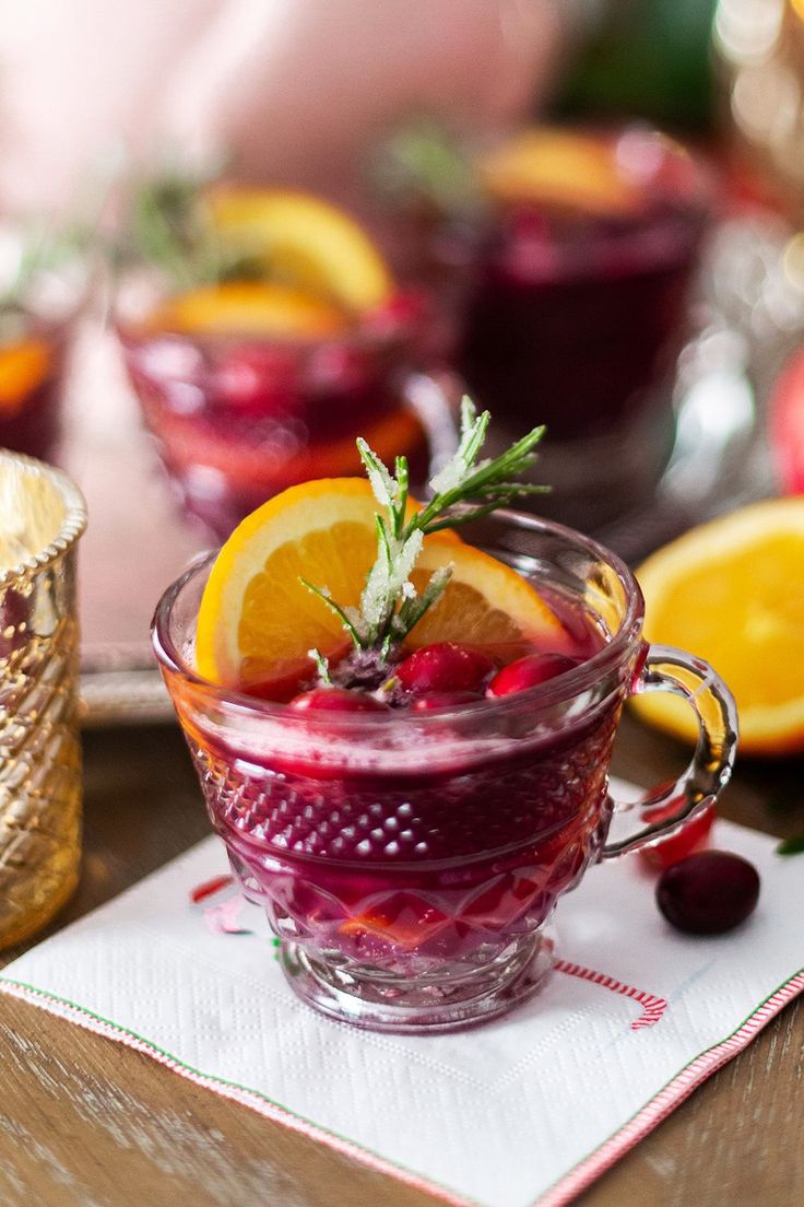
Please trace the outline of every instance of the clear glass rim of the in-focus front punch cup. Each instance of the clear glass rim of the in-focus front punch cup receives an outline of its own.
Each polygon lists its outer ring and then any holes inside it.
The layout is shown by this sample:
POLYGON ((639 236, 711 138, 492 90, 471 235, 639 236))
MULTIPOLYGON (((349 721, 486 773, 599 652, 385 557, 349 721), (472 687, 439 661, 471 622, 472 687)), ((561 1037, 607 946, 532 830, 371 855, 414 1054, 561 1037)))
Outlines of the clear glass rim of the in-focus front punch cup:
MULTIPOLYGON (((599 682, 610 667, 626 660, 634 641, 640 639, 645 604, 639 583, 624 561, 622 561, 617 554, 606 549, 605 546, 598 544, 597 541, 593 541, 591 537, 585 536, 575 529, 567 527, 564 524, 556 524, 552 520, 545 520, 536 515, 529 515, 524 512, 509 509, 500 509, 495 512, 492 519, 494 521, 504 521, 520 530, 524 529, 532 532, 541 532, 546 536, 561 537, 568 543, 571 543, 576 549, 581 549, 597 561, 603 561, 610 566, 611 570, 614 570, 626 593, 627 607, 620 628, 611 641, 608 641, 597 654, 593 654, 592 658, 586 659, 586 661, 581 663, 580 666, 576 666, 570 671, 565 671, 563 675, 558 676, 558 678, 548 680, 546 683, 540 683, 524 692, 516 692, 510 696, 503 696, 493 700, 479 700, 475 704, 462 705, 459 710, 439 709, 426 713, 406 710, 392 710, 388 713, 380 715, 339 713, 339 731, 342 731, 344 734, 347 731, 377 733, 389 724, 413 725, 421 729, 423 724, 442 724, 451 717, 465 719, 471 716, 480 722, 486 717, 500 716, 503 712, 517 711, 522 707, 544 707, 557 704, 562 700, 573 699, 573 696, 579 695, 592 684, 599 682)), ((491 549, 493 549, 493 544, 489 544, 489 550, 491 549)), ((210 565, 210 562, 217 556, 217 553, 218 550, 215 549, 211 553, 201 554, 195 558, 184 573, 171 583, 170 587, 168 587, 157 604, 151 631, 153 648, 158 661, 165 670, 181 676, 182 680, 192 683, 206 695, 216 699, 219 704, 236 710, 243 716, 270 718, 272 721, 282 721, 286 724, 298 721, 299 724, 305 724, 307 727, 310 725, 311 718, 317 716, 322 719, 327 719, 327 723, 331 727, 331 712, 313 713, 312 711, 309 711, 298 713, 294 717, 293 711, 288 709, 287 704, 276 704, 270 700, 258 700, 253 695, 246 695, 243 692, 237 692, 234 688, 221 687, 217 683, 211 683, 209 680, 203 678, 203 676, 200 676, 198 671, 184 660, 181 651, 176 648, 176 645, 168 631, 176 600, 189 581, 210 565)))

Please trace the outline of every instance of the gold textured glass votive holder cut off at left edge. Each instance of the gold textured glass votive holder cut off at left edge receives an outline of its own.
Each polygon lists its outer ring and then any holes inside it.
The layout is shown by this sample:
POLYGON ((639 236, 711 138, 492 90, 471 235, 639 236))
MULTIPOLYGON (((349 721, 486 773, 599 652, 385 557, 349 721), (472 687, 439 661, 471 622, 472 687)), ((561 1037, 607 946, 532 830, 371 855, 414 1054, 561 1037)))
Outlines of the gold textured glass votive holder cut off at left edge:
POLYGON ((65 904, 81 859, 76 546, 70 479, 0 450, 0 947, 65 904))

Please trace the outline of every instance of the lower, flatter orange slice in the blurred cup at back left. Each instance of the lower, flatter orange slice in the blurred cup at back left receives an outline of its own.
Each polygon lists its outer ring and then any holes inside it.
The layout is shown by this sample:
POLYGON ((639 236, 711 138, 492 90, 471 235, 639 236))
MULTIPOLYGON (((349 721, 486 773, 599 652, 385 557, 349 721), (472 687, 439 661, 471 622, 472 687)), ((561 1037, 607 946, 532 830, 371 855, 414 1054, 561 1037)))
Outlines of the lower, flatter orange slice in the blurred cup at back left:
POLYGON ((190 334, 322 339, 344 331, 342 310, 271 281, 224 281, 178 293, 148 325, 190 334))

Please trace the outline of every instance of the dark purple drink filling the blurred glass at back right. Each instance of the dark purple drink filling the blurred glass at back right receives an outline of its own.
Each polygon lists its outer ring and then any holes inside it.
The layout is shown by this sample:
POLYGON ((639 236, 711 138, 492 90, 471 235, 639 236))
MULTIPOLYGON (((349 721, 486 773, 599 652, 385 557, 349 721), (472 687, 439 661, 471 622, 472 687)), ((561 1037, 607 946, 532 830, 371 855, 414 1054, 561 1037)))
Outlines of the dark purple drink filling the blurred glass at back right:
POLYGON ((457 363, 495 420, 551 441, 610 433, 656 403, 671 371, 700 220, 503 215, 481 246, 457 363))

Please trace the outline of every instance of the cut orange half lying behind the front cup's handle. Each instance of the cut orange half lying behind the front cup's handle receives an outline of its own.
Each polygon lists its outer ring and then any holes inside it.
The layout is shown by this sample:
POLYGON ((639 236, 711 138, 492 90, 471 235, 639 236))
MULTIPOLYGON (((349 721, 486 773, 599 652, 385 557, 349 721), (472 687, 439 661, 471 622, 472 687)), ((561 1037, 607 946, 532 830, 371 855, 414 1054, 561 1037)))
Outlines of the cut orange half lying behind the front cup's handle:
MULTIPOLYGON (((636 571, 645 635, 705 658, 730 687, 740 750, 804 750, 804 497, 773 498, 700 525, 636 571)), ((694 740, 677 698, 636 696, 640 717, 694 740)))

